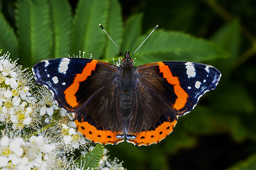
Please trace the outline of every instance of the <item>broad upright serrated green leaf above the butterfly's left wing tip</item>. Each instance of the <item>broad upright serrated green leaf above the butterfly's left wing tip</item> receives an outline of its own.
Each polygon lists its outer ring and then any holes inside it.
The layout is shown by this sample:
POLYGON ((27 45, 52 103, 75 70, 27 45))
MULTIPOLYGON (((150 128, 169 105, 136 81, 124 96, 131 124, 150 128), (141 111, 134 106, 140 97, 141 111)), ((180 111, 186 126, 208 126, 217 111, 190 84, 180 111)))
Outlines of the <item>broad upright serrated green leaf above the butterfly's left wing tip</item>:
POLYGON ((20 47, 19 62, 23 66, 29 67, 35 62, 50 58, 52 31, 46 0, 19 0, 16 26, 20 47))

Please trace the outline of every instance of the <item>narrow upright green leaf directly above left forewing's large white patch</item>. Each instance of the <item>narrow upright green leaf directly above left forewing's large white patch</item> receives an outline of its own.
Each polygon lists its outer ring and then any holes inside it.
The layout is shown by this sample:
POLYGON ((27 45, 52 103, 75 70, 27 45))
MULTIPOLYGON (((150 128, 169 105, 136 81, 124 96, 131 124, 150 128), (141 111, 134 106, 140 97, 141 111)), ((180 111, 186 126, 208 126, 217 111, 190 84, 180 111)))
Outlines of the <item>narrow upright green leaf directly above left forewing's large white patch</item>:
POLYGON ((67 0, 50 0, 52 18, 52 57, 67 57, 71 50, 72 12, 67 0))

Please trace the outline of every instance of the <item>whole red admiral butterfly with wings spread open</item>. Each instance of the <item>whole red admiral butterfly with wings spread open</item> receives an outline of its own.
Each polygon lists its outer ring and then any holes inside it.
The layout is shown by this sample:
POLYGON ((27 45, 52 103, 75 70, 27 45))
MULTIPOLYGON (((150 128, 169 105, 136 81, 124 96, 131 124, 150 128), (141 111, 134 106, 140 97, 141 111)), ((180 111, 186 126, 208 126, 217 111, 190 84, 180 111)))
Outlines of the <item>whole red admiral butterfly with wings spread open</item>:
POLYGON ((74 112, 77 130, 92 142, 136 146, 163 140, 180 115, 216 88, 221 72, 194 62, 133 66, 126 52, 121 66, 85 58, 43 60, 33 67, 60 108, 74 112))

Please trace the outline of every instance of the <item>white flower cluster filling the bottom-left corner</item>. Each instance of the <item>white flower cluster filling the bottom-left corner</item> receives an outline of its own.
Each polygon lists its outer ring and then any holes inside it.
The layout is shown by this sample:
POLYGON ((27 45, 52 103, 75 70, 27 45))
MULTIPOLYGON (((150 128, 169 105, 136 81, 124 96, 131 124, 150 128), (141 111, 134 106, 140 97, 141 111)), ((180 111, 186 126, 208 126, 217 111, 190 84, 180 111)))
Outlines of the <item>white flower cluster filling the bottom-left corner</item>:
POLYGON ((43 136, 32 136, 29 140, 22 137, 0 139, 0 169, 51 169, 55 166, 56 144, 45 142, 43 136))

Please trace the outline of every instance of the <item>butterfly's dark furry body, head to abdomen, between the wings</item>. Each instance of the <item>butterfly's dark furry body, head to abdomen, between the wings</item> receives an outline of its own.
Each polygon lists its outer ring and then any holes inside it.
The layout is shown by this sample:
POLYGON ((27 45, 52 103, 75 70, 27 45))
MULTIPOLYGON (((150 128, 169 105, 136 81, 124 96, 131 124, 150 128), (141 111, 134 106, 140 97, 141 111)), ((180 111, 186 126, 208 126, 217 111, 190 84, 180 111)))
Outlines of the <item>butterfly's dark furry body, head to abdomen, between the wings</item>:
POLYGON ((130 59, 129 52, 126 52, 124 59, 122 60, 121 66, 119 67, 119 98, 121 113, 126 117, 130 115, 131 109, 133 108, 133 101, 135 92, 135 67, 133 67, 133 60, 130 59))

